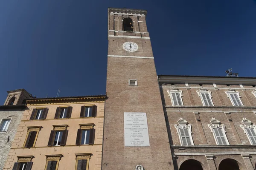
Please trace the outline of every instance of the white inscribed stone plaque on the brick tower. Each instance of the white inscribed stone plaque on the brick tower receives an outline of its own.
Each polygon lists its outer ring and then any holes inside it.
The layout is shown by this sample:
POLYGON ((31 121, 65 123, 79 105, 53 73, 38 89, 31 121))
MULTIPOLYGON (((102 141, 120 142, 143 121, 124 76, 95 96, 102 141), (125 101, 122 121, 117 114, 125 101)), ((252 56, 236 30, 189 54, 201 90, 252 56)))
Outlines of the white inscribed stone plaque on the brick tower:
POLYGON ((149 146, 146 113, 124 112, 125 146, 149 146))

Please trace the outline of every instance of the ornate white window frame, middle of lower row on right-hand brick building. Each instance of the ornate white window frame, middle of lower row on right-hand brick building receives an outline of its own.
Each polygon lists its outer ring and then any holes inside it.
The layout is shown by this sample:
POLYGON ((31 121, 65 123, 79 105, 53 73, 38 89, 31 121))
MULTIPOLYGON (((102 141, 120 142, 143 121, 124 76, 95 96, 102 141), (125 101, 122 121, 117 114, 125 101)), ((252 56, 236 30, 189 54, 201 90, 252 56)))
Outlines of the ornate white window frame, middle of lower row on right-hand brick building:
MULTIPOLYGON (((210 124, 208 124, 208 127, 210 128, 210 130, 211 130, 211 132, 212 132, 212 135, 213 135, 213 137, 214 137, 214 140, 215 140, 215 142, 216 142, 217 145, 223 145, 223 144, 219 144, 219 143, 218 143, 218 139, 217 139, 217 137, 216 137, 216 135, 215 135, 215 132, 214 132, 214 130, 213 130, 214 128, 221 128, 221 129, 222 129, 222 133, 223 133, 225 142, 227 143, 227 144, 225 144, 225 145, 230 145, 230 143, 228 142, 228 139, 227 139, 227 135, 226 135, 227 132, 226 132, 226 130, 225 130, 225 125, 221 124, 220 121, 218 121, 217 119, 215 119, 215 118, 213 117, 212 120, 211 120, 211 122, 210 122, 210 124)), ((225 145, 223 145, 223 146, 225 146, 225 145)))

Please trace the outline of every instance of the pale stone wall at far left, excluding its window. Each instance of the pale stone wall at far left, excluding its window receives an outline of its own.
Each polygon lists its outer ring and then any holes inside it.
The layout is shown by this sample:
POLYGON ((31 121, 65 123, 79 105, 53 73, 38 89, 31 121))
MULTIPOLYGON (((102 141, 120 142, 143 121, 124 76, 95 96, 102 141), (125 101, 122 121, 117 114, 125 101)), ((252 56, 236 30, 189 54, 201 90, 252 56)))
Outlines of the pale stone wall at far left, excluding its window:
POLYGON ((15 133, 17 131, 18 125, 20 124, 22 112, 23 111, 0 110, 0 121, 2 121, 2 119, 4 118, 12 118, 7 132, 0 132, 0 170, 2 170, 3 168, 9 150, 11 148, 12 142, 15 139, 15 133))

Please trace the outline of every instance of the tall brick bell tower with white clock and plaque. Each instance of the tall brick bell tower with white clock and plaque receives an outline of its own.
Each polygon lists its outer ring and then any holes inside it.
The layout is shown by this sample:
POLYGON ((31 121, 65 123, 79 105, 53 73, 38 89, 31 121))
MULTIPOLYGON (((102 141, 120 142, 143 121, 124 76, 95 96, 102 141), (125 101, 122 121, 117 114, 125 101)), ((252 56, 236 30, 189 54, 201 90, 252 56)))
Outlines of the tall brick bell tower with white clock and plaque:
POLYGON ((174 169, 146 14, 108 8, 102 170, 174 169))

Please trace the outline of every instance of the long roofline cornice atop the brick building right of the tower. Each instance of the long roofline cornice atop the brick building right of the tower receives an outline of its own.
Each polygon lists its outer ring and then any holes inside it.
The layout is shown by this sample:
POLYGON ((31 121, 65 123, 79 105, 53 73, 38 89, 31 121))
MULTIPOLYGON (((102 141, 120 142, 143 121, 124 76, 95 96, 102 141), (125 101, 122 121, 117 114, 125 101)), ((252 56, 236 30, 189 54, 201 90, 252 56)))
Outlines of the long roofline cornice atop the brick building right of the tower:
POLYGON ((159 82, 182 83, 218 83, 218 84, 249 84, 255 85, 255 77, 207 77, 207 76, 158 76, 159 82))

